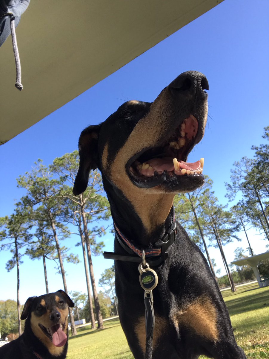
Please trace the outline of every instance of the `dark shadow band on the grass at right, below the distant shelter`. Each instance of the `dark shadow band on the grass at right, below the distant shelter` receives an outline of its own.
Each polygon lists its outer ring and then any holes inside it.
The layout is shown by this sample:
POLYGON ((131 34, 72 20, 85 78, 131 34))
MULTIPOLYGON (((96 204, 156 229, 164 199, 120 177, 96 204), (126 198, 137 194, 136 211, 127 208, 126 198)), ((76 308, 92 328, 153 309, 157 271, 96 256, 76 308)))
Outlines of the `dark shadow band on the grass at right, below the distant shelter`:
POLYGON ((266 308, 269 306, 269 292, 258 292, 247 297, 231 299, 226 302, 226 306, 230 315, 266 308))

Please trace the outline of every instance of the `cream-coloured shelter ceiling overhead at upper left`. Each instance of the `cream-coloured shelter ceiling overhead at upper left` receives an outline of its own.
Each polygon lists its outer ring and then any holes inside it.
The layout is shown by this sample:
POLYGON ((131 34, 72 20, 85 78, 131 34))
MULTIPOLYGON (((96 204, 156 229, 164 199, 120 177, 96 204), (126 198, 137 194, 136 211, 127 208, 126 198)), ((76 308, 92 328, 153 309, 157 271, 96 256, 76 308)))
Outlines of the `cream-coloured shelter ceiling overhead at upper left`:
POLYGON ((0 144, 40 121, 222 0, 32 0, 0 48, 0 144))

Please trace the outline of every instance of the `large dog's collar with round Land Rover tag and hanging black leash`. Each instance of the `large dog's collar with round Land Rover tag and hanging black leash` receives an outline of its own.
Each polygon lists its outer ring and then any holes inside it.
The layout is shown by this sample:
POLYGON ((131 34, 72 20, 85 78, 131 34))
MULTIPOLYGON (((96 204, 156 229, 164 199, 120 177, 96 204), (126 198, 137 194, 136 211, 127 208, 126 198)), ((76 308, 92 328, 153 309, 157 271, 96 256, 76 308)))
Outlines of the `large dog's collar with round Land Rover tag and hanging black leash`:
POLYGON ((145 326, 146 326, 146 348, 145 359, 152 359, 153 355, 153 331, 155 325, 155 315, 153 309, 152 291, 158 284, 157 273, 150 266, 158 266, 168 258, 166 252, 168 247, 174 243, 177 235, 177 225, 174 222, 174 208, 172 207, 172 220, 169 228, 165 231, 162 239, 154 243, 152 248, 138 248, 131 243, 128 238, 120 232, 114 223, 115 236, 121 247, 129 253, 129 256, 114 252, 104 252, 105 259, 114 259, 117 261, 128 261, 139 263, 139 282, 145 291, 145 326), (136 255, 133 255, 135 253, 136 255))

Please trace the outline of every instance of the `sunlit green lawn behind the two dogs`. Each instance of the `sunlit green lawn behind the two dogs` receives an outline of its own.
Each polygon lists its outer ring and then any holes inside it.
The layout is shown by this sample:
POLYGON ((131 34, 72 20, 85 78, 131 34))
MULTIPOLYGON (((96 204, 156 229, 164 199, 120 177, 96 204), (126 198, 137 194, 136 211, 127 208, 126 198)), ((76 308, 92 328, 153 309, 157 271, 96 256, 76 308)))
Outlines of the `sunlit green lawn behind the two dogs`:
MULTIPOLYGON (((248 359, 269 358, 269 287, 250 284, 222 291, 231 316, 235 339, 248 359)), ((70 337, 67 359, 132 359, 120 322, 104 322, 104 330, 78 328, 70 337)), ((200 359, 207 357, 200 356, 200 359)))

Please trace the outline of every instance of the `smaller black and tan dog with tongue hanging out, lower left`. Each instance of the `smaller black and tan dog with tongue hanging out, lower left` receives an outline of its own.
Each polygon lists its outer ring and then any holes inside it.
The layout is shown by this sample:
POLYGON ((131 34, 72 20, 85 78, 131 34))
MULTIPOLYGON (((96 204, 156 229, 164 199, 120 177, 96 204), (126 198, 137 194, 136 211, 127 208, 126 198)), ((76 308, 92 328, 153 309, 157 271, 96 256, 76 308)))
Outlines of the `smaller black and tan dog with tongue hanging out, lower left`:
POLYGON ((1 359, 65 359, 68 344, 68 306, 63 290, 28 298, 21 319, 23 334, 0 348, 1 359))

